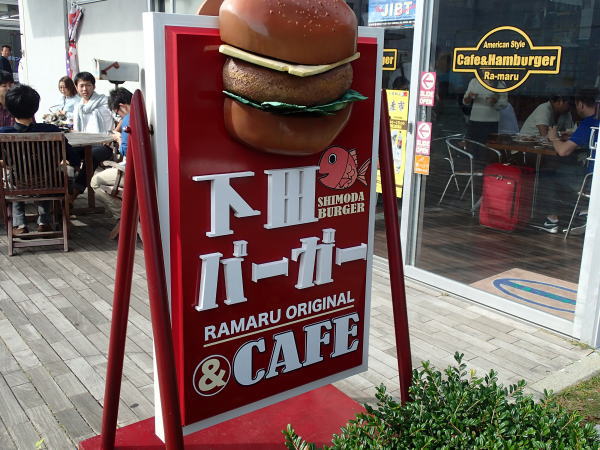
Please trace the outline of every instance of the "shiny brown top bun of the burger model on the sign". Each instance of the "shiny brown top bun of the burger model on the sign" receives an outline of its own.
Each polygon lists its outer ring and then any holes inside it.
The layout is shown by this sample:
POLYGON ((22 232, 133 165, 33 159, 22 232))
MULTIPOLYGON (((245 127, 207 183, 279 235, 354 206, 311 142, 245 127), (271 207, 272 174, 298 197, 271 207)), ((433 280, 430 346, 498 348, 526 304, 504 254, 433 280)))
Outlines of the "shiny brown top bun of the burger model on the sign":
POLYGON ((344 0, 224 0, 219 28, 227 44, 295 64, 356 53, 356 16, 344 0))

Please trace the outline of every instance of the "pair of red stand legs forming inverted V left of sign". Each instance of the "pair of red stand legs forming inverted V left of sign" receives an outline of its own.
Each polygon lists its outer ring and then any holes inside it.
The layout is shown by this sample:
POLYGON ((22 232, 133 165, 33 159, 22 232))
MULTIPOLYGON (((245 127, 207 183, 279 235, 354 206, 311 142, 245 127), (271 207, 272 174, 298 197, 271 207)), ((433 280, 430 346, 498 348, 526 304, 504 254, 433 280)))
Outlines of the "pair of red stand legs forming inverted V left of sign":
POLYGON ((158 207, 150 132, 140 90, 135 91, 133 95, 130 115, 130 155, 125 172, 123 215, 120 225, 113 321, 102 416, 102 448, 113 449, 115 446, 139 203, 160 400, 163 405, 165 444, 168 449, 183 449, 167 282, 160 230, 158 229, 158 207))

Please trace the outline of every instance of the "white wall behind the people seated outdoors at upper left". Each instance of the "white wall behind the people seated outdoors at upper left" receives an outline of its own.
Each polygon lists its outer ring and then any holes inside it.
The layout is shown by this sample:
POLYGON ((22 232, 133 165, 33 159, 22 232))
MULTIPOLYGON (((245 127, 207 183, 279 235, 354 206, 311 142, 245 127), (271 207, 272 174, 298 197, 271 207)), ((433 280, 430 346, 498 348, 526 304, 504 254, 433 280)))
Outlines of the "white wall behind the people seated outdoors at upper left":
MULTIPOLYGON (((19 0, 22 46, 26 55, 24 83, 42 97, 38 121, 59 98, 58 80, 66 75, 67 0, 19 0)), ((104 0, 82 5, 79 27, 79 70, 96 75, 94 58, 143 64, 142 13, 147 0, 104 0)), ((125 83, 130 91, 140 83, 125 83)), ((108 94, 108 81, 98 80, 96 90, 108 94)))

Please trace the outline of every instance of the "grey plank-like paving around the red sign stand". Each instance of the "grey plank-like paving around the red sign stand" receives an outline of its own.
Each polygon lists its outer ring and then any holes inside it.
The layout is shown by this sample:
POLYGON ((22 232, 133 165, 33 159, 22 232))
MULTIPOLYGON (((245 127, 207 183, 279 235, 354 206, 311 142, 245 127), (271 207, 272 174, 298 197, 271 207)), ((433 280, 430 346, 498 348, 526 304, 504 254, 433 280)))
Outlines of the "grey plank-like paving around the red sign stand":
MULTIPOLYGON (((71 251, 6 256, 0 230, 0 448, 73 448, 99 433, 116 243, 110 221, 73 223, 71 251)), ((357 401, 375 386, 398 393, 389 279, 376 258, 368 372, 337 383, 357 401)), ((119 424, 154 414, 152 342, 142 251, 137 251, 119 424)), ((465 353, 478 371, 527 380, 534 392, 600 369, 598 354, 562 336, 416 283, 407 288, 413 365, 465 353)))

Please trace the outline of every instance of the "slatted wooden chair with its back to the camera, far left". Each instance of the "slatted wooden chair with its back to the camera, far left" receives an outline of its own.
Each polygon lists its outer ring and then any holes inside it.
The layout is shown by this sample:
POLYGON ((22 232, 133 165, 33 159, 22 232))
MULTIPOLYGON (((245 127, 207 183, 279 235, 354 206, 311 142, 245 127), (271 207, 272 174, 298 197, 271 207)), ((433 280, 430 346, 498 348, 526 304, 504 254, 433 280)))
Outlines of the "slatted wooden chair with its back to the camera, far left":
POLYGON ((4 207, 8 255, 14 248, 63 245, 69 250, 69 202, 62 133, 0 133, 0 206, 4 207), (60 204, 62 230, 13 235, 12 203, 49 200, 60 204))

